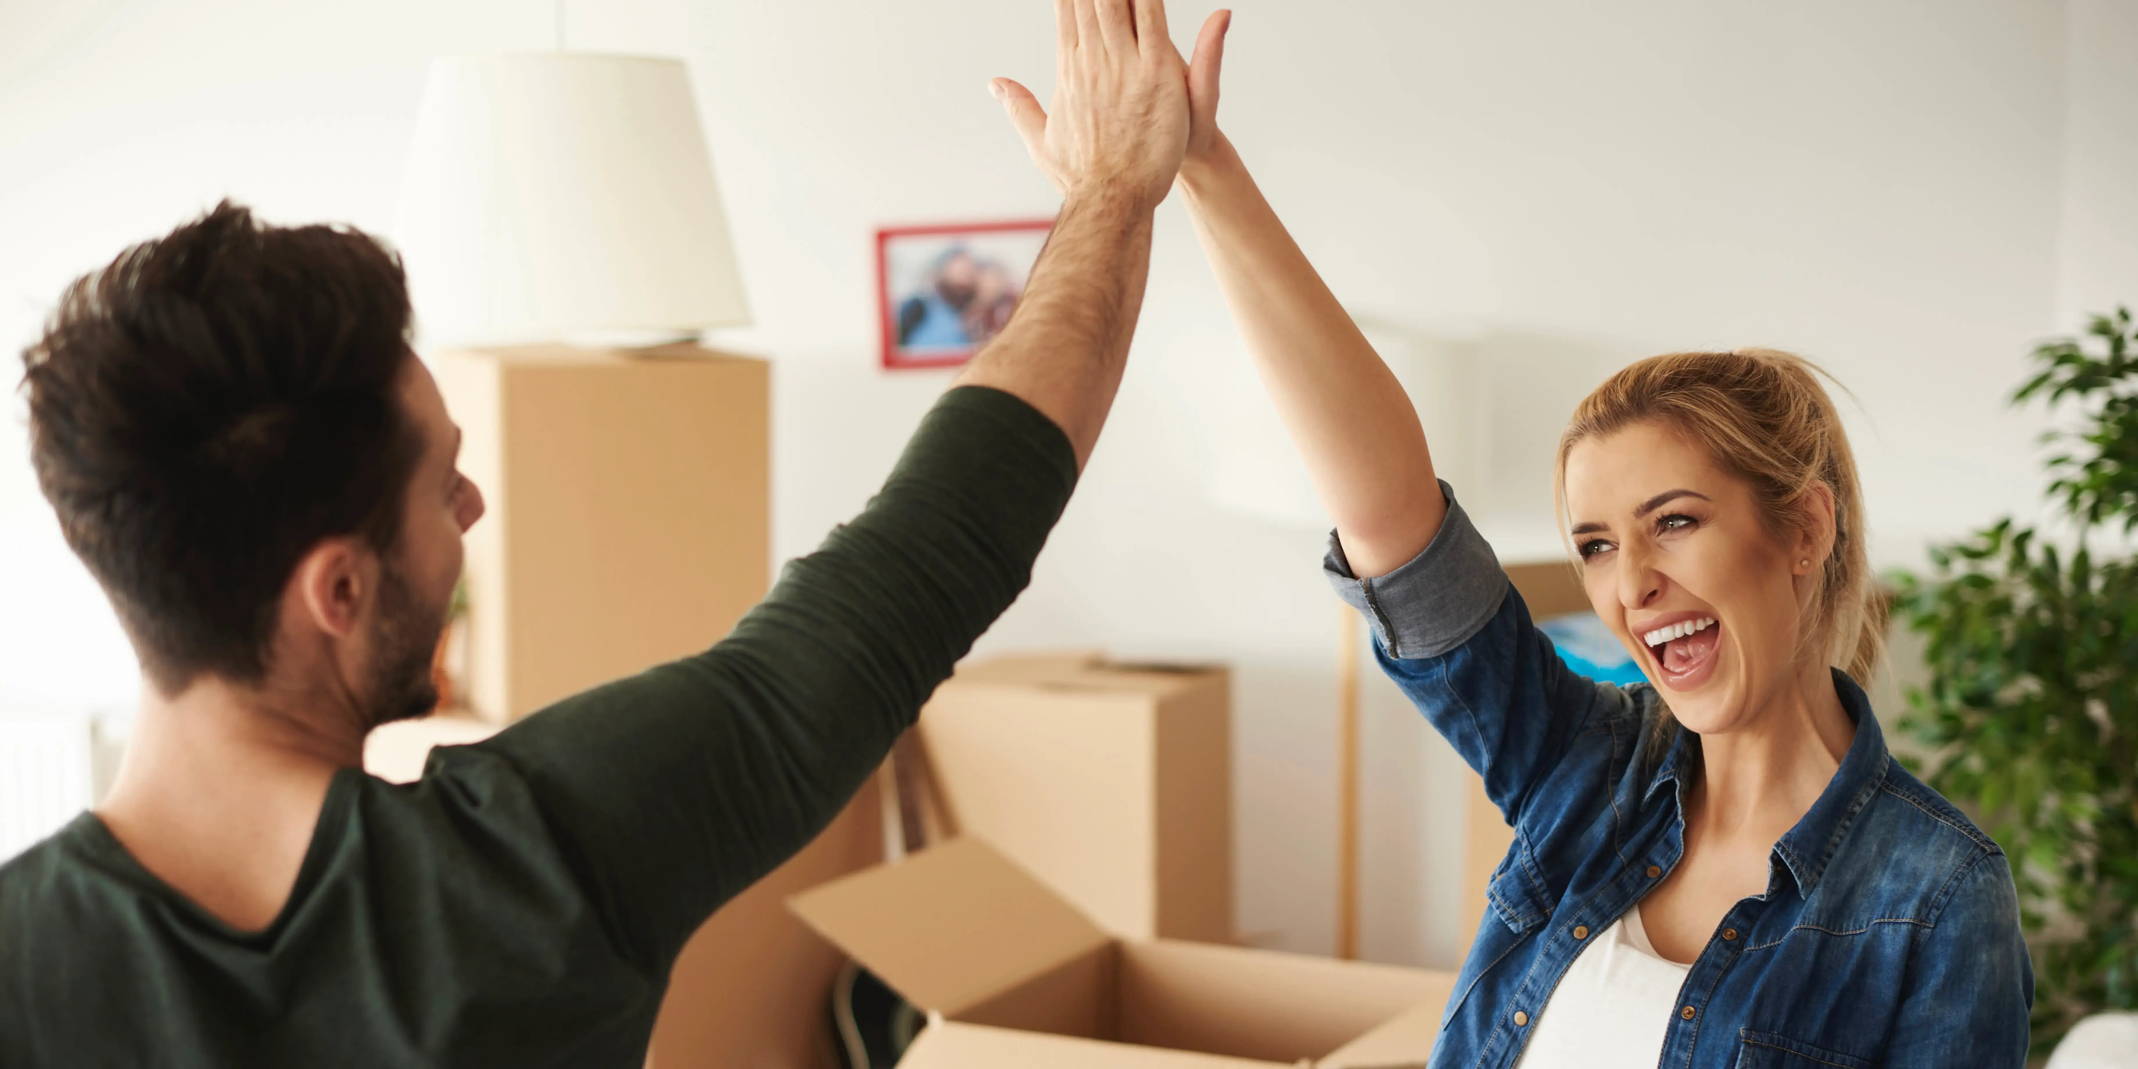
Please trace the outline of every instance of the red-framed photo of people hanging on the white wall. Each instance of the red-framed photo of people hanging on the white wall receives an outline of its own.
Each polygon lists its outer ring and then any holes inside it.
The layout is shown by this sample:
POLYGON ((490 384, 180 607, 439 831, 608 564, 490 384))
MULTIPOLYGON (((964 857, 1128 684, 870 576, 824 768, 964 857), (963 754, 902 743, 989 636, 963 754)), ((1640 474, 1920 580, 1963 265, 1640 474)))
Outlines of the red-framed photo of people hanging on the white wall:
POLYGON ((885 368, 956 368, 1009 323, 1054 220, 885 227, 877 301, 885 368))

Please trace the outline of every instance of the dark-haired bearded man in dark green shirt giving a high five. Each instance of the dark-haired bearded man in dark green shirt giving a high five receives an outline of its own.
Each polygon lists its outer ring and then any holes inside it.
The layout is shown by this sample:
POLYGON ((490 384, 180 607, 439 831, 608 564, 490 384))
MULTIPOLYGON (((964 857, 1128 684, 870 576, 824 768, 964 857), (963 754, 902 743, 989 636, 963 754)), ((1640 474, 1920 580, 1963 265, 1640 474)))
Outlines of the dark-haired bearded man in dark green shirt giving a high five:
POLYGON ((1058 0, 1063 212, 1022 310, 883 492, 725 641, 421 783, 481 492, 353 231, 218 207, 77 282, 32 458, 148 676, 111 797, 0 868, 0 1065, 644 1063, 684 939, 808 842, 1028 577, 1097 440, 1187 143, 1159 0, 1058 0))

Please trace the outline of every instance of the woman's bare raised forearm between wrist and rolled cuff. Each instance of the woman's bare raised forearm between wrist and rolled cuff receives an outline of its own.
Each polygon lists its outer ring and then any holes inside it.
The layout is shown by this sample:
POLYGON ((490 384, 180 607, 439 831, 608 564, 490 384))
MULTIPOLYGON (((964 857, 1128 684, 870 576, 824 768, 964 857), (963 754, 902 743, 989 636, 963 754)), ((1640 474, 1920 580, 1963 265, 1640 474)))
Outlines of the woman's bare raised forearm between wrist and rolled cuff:
POLYGON ((1189 216, 1360 577, 1417 556, 1447 505, 1403 385, 1255 188, 1231 143, 1180 169, 1189 216))

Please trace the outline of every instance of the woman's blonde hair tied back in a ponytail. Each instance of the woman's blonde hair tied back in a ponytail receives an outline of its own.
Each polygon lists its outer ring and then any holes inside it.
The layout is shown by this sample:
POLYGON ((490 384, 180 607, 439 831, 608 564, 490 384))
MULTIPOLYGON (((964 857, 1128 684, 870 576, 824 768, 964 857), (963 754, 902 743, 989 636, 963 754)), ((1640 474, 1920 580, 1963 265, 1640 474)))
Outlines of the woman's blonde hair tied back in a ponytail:
POLYGON ((1715 464, 1751 485, 1777 537, 1802 530, 1809 496, 1826 485, 1834 496, 1834 547, 1819 564, 1798 652, 1824 654, 1869 686, 1886 652, 1886 601, 1864 552, 1856 455, 1819 374, 1811 361, 1775 348, 1666 353, 1631 363, 1574 408, 1559 436, 1554 490, 1565 517, 1567 453, 1633 423, 1661 423, 1706 445, 1715 464))

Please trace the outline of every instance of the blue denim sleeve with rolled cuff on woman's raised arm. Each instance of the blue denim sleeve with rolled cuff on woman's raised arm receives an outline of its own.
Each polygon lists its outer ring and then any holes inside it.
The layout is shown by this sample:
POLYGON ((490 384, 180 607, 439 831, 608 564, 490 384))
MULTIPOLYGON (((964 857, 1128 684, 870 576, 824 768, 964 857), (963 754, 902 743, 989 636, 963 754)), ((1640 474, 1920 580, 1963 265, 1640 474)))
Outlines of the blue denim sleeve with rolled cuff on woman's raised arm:
POLYGON ((1516 823, 1580 729, 1599 716, 1638 718, 1638 710, 1618 686, 1578 676, 1559 659, 1454 487, 1441 481, 1441 530, 1396 571, 1360 579, 1336 532, 1321 571, 1373 629, 1381 671, 1516 823))

